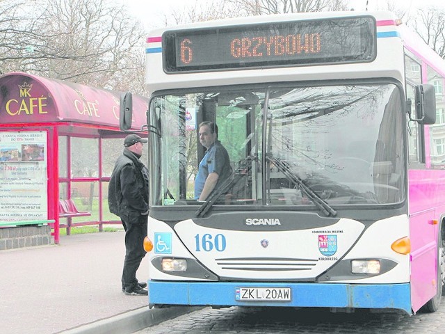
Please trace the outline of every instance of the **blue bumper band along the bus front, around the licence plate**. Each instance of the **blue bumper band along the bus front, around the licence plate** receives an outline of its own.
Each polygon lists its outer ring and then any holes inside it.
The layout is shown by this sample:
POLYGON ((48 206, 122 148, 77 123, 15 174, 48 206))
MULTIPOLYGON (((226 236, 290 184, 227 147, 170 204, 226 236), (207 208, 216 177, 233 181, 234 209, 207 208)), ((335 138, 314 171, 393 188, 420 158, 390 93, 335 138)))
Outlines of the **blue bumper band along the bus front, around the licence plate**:
POLYGON ((149 281, 150 304, 316 308, 394 308, 411 311, 410 284, 325 284, 149 281), (291 301, 236 301, 239 287, 290 287, 291 301))

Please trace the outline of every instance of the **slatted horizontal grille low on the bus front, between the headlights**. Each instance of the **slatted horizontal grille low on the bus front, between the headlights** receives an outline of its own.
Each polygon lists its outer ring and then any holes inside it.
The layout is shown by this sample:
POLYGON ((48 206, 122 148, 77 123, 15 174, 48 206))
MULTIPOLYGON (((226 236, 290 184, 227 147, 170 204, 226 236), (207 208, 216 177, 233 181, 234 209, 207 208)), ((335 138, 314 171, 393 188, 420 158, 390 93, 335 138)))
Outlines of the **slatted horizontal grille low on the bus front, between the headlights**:
POLYGON ((221 269, 254 271, 295 271, 311 270, 318 260, 291 259, 281 257, 234 257, 216 259, 221 269))

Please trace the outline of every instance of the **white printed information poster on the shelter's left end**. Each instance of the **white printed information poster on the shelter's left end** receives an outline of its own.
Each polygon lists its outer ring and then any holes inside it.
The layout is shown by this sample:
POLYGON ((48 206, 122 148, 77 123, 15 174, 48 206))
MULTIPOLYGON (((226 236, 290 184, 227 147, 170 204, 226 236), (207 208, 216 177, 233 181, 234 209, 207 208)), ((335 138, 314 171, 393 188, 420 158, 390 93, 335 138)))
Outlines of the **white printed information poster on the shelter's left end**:
POLYGON ((47 133, 0 132, 0 221, 48 218, 47 133))

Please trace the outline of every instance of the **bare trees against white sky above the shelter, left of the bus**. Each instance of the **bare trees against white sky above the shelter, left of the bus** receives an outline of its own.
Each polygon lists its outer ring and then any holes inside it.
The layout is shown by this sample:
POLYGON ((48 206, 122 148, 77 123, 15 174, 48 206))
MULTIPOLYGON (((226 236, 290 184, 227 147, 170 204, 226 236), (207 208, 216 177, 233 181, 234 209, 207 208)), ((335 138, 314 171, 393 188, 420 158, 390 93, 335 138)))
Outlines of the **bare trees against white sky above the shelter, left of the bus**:
POLYGON ((109 0, 0 0, 1 72, 23 71, 146 95, 144 34, 109 0))

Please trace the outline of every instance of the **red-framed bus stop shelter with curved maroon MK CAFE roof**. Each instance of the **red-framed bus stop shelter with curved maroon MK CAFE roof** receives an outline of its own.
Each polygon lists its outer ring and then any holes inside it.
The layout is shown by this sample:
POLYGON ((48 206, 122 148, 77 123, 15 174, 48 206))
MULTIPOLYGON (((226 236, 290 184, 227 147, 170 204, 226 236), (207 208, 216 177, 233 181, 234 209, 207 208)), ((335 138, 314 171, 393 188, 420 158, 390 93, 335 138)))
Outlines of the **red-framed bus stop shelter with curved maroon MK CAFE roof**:
MULTIPOLYGON (((119 92, 22 72, 0 77, 0 227, 49 224, 58 244, 62 227, 120 223, 107 203, 126 136, 119 100, 119 92)), ((134 131, 147 107, 133 95, 134 131)))

